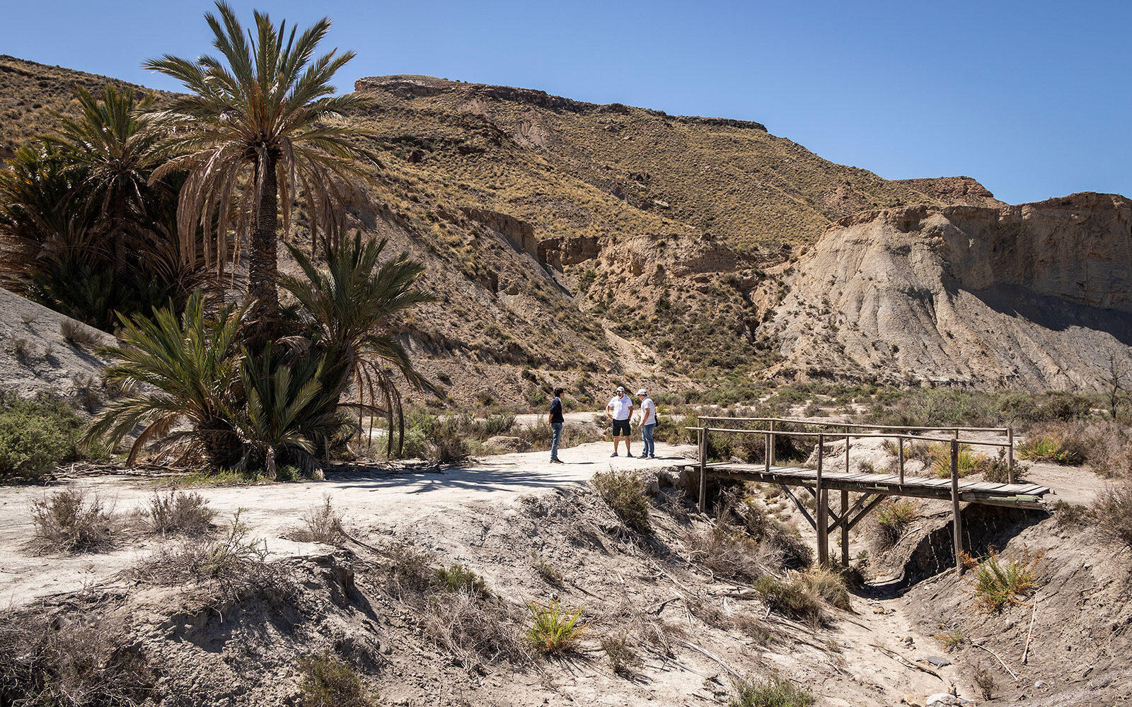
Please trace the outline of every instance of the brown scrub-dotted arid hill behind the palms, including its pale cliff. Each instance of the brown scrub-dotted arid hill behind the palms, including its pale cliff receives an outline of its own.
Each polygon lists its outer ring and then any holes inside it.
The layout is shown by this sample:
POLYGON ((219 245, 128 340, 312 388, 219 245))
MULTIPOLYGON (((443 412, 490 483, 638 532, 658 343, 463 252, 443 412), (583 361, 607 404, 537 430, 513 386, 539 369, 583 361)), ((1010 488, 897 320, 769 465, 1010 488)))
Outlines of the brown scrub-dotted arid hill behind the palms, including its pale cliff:
MULTIPOLYGON (((0 57, 5 145, 105 80, 0 57)), ((398 326, 456 400, 767 374, 1088 387, 1124 355, 1129 261, 1105 255, 1126 245, 1122 198, 1007 206, 966 176, 833 164, 755 122, 423 76, 355 88, 372 105, 350 120, 383 166, 352 224, 427 265, 440 301, 398 326)))

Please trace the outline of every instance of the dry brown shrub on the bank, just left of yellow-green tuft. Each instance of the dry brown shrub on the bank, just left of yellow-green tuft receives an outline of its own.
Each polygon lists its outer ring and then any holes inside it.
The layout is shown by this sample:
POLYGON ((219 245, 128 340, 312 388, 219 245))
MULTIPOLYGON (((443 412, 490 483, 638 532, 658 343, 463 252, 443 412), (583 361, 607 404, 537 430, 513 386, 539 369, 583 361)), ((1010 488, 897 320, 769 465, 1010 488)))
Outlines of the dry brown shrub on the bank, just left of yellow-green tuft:
POLYGON ((447 649, 466 670, 496 661, 525 661, 516 630, 518 618, 503 603, 460 589, 428 597, 422 609, 424 636, 447 649))

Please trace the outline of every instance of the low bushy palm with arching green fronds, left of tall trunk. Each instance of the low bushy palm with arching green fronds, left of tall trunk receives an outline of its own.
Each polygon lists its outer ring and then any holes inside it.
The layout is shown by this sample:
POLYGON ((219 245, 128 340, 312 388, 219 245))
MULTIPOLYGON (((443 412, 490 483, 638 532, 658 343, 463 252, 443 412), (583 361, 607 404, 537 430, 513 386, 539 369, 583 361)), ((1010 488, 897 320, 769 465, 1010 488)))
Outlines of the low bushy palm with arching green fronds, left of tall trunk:
POLYGON ((140 425, 127 464, 151 440, 160 447, 203 448, 216 466, 239 462, 243 443, 232 424, 232 408, 240 398, 238 337, 246 312, 247 307, 224 307, 208 318, 198 291, 189 296, 180 320, 172 305, 156 310, 153 319, 122 317, 122 344, 102 350, 118 362, 103 376, 108 382, 144 388, 108 403, 87 428, 83 443, 113 447, 140 425), (181 422, 189 429, 173 432, 181 422))

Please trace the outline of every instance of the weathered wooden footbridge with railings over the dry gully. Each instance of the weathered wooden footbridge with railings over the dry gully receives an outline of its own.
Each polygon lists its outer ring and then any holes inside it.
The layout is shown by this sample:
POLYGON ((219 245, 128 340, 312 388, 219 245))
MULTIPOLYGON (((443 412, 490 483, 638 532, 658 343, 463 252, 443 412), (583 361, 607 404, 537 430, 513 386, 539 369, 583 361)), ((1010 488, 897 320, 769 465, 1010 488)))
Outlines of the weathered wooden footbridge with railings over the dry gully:
MULTIPOLYGON (((952 526, 954 531, 955 567, 962 571, 961 553, 963 551, 962 520, 960 503, 981 503, 987 506, 1006 506, 1011 508, 1040 509, 1043 497, 1050 493, 1046 486, 1031 483, 1017 483, 1014 477, 1014 432, 1011 428, 924 428, 924 426, 889 426, 863 424, 826 424, 806 420, 788 420, 782 417, 698 417, 695 428, 698 439, 700 472, 700 510, 706 510, 707 477, 738 478, 778 484, 794 501, 814 531, 817 533, 817 559, 822 564, 829 564, 830 533, 841 532, 841 562, 849 564, 849 531, 860 523, 871 510, 892 495, 923 499, 951 500, 952 526), (740 426, 754 425, 754 426, 740 426), (813 431, 813 430, 817 431, 813 431), (804 431, 803 431, 804 430, 804 431), (709 462, 707 440, 710 434, 762 436, 763 463, 741 464, 734 462, 709 462), (984 437, 975 439, 972 434, 984 437), (986 439, 985 436, 995 439, 986 439), (795 466, 778 465, 774 448, 779 437, 816 438, 816 465, 795 466), (961 438, 964 436, 964 438, 961 438), (850 465, 851 440, 887 439, 897 450, 897 473, 876 473, 874 471, 852 471, 850 465), (1005 439, 1002 439, 1005 438, 1005 439), (831 462, 840 466, 840 458, 831 459, 826 446, 830 442, 844 441, 844 469, 829 468, 831 462), (911 442, 931 442, 940 445, 937 449, 950 451, 950 477, 918 476, 904 474, 906 445, 911 442), (969 447, 992 447, 1005 450, 1007 465, 1006 483, 976 482, 962 480, 959 476, 960 451, 969 447), (804 488, 814 499, 813 506, 804 503, 791 490, 791 486, 804 488), (830 508, 829 493, 838 491, 841 495, 840 509, 830 508), (849 494, 856 493, 856 500, 850 505, 849 494), (811 512, 813 510, 813 514, 811 512)), ((942 455, 941 455, 942 456, 942 455)), ((840 454, 838 454, 840 457, 840 454)))

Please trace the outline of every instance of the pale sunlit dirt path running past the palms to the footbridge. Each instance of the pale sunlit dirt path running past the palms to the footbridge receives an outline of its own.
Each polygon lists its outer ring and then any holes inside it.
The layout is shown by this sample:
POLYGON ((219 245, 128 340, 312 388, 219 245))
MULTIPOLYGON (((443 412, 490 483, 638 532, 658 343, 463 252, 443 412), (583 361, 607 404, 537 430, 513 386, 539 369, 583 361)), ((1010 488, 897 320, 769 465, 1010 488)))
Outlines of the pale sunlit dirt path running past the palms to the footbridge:
MULTIPOLYGON (((657 459, 610 458, 608 442, 563 449, 565 464, 550 464, 546 451, 487 457, 460 468, 444 471, 374 471, 331 473, 326 481, 195 489, 226 521, 238 510, 257 538, 273 555, 305 555, 315 545, 289 541, 282 535, 301 527, 302 515, 329 494, 346 524, 367 526, 409 525, 445 510, 490 505, 507 507, 521 495, 583 484, 594 473, 610 467, 646 469, 677 466, 693 447, 657 445, 657 459)), ((65 478, 46 489, 6 489, 0 500, 0 606, 19 605, 35 598, 75 592, 95 584, 113 583, 158 540, 137 536, 118 549, 97 554, 36 557, 26 550, 34 535, 32 502, 63 486, 82 486, 96 493, 122 516, 146 507, 170 477, 113 475, 65 478)))

